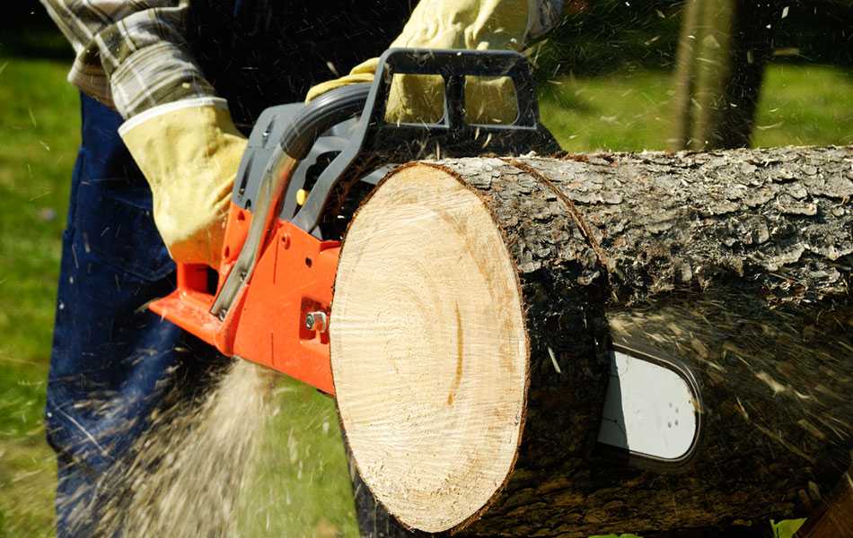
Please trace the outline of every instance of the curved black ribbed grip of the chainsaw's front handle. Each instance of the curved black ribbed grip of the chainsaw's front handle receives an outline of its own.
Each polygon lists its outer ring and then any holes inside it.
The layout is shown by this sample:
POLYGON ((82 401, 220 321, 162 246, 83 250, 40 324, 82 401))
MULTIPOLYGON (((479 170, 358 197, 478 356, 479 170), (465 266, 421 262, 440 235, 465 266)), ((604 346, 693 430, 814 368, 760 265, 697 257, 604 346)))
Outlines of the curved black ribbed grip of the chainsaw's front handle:
POLYGON ((349 84, 321 94, 294 118, 281 139, 281 149, 295 161, 302 161, 317 138, 365 108, 370 83, 349 84))

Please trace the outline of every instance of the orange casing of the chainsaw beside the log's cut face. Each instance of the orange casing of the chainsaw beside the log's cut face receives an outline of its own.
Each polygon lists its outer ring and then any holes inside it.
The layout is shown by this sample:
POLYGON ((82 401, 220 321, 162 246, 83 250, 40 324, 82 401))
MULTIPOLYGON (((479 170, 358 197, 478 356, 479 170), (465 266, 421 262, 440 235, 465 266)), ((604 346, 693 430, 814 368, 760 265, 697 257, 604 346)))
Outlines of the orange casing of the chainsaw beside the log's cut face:
POLYGON ((339 241, 322 241, 292 222, 277 221, 251 286, 243 288, 224 319, 210 312, 246 240, 251 217, 231 205, 215 290, 207 265, 178 264, 177 289, 149 308, 224 355, 257 362, 334 395, 328 331, 309 329, 305 318, 312 312, 329 316, 339 241))

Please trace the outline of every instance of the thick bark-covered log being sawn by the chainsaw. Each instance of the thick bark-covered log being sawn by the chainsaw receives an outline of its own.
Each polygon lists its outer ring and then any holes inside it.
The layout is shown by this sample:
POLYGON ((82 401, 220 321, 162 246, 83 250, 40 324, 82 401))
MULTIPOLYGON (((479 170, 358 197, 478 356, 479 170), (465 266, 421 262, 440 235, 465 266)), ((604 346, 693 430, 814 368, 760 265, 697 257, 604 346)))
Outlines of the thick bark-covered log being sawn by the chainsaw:
POLYGON ((330 316, 363 534, 808 516, 853 448, 851 196, 850 147, 392 171, 347 230, 330 316), (608 346, 636 339, 701 388, 677 469, 596 443, 608 346))

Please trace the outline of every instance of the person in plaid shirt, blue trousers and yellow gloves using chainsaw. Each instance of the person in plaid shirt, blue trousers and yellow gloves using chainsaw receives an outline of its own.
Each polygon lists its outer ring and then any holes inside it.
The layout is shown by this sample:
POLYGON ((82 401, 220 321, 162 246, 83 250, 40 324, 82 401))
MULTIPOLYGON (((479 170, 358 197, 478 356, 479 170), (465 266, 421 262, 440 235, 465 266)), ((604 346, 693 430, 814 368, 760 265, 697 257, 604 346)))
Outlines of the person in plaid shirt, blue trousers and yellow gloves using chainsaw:
MULTIPOLYGON (((41 2, 75 50, 68 80, 81 91, 45 410, 57 534, 79 536, 97 519, 81 511, 109 495, 98 478, 166 395, 191 397, 223 360, 145 305, 173 289, 172 259, 216 266, 259 113, 372 80, 389 45, 520 50, 563 1, 41 2)), ((425 83, 395 85, 389 114, 418 115, 425 83)))

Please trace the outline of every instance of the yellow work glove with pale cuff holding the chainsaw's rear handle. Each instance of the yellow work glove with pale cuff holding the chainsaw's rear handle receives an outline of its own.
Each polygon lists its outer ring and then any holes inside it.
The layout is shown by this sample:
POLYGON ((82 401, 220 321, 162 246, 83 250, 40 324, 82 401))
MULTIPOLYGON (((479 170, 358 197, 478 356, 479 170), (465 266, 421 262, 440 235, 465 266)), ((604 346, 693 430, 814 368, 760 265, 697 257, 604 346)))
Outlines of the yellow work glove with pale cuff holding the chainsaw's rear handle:
POLYGON ((154 223, 176 262, 219 265, 234 176, 246 139, 220 99, 151 108, 119 128, 154 200, 154 223))

